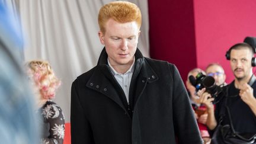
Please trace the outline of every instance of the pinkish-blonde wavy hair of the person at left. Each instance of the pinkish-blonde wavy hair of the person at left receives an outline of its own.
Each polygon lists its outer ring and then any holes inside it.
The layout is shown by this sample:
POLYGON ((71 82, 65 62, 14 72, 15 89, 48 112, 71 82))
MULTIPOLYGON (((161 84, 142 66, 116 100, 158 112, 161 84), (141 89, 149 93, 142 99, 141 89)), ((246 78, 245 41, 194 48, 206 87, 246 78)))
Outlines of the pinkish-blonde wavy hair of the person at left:
POLYGON ((49 62, 44 60, 31 60, 27 62, 28 76, 33 80, 44 99, 55 97, 56 89, 60 86, 60 80, 56 78, 49 62))

